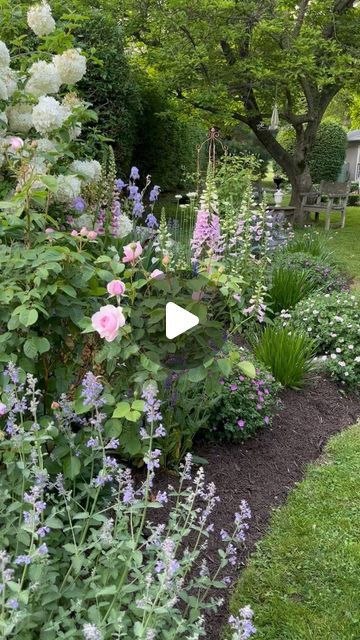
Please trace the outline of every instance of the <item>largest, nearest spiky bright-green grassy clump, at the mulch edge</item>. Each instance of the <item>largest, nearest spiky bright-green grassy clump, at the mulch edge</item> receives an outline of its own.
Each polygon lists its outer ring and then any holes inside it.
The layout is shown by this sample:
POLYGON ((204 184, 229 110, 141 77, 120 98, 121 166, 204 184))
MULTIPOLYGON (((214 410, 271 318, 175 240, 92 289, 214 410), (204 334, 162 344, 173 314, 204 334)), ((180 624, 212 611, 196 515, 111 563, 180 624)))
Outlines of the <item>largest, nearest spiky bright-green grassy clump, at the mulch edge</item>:
POLYGON ((316 342, 301 330, 267 327, 254 344, 254 352, 284 387, 300 389, 314 369, 316 342))

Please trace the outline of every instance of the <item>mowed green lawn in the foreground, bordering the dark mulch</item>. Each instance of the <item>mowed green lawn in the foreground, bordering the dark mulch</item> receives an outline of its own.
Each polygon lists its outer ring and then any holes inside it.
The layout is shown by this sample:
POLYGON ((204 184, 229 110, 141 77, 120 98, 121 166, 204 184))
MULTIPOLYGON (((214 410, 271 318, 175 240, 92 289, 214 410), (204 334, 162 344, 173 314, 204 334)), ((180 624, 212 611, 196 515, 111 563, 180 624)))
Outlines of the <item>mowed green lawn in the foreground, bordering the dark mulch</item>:
POLYGON ((235 588, 231 612, 250 604, 257 640, 359 640, 359 478, 357 425, 275 512, 235 588))

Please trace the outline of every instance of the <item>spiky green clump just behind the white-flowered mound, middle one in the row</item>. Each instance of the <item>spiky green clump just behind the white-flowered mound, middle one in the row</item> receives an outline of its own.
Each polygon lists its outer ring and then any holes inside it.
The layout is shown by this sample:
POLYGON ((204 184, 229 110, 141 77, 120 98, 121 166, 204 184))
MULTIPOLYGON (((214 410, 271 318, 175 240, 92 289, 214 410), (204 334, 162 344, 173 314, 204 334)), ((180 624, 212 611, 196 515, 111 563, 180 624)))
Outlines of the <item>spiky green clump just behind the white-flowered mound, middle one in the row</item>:
POLYGON ((316 287, 317 283, 309 271, 278 267, 271 274, 269 307, 274 314, 280 313, 283 309, 292 309, 316 287))

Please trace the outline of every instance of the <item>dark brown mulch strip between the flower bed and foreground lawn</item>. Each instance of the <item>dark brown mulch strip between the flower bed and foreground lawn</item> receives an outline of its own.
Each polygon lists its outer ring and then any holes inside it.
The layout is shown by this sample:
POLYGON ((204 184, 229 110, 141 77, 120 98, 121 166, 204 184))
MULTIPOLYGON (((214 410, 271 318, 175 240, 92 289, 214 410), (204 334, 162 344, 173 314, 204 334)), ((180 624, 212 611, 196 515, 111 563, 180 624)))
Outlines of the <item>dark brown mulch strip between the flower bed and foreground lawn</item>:
MULTIPOLYGON (((284 391, 282 401, 283 410, 273 426, 243 445, 198 443, 195 450, 207 459, 206 478, 216 484, 221 498, 214 514, 216 530, 231 528, 242 499, 250 505, 253 516, 242 564, 265 533, 271 510, 282 504, 293 485, 303 478, 307 464, 320 456, 330 436, 354 424, 360 416, 360 398, 342 395, 328 380, 319 380, 301 392, 284 391)), ((206 555, 217 558, 215 541, 206 555)), ((239 567, 234 571, 238 573, 239 567)), ((220 640, 227 604, 209 618, 208 640, 220 640)))

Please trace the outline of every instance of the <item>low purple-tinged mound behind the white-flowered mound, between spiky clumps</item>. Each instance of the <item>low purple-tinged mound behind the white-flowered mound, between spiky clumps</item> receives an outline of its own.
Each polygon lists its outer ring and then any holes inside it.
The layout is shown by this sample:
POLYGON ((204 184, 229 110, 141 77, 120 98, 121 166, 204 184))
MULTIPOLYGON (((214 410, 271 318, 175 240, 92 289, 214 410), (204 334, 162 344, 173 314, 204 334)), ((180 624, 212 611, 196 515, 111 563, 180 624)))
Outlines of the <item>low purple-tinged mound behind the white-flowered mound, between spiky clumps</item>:
POLYGON ((279 251, 274 256, 274 268, 286 267, 294 270, 305 270, 311 274, 316 288, 327 292, 341 291, 347 284, 347 278, 334 265, 321 256, 312 256, 301 251, 292 253, 279 251))

